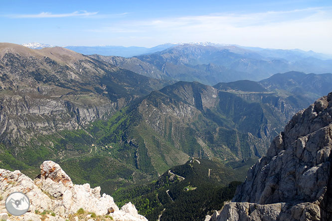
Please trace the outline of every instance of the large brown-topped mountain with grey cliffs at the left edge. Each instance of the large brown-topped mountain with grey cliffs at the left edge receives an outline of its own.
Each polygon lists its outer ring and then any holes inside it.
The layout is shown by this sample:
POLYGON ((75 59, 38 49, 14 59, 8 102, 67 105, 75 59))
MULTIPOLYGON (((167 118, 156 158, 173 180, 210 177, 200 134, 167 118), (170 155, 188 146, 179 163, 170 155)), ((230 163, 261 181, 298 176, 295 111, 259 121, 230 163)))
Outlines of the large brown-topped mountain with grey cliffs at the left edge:
POLYGON ((0 140, 77 129, 165 83, 64 48, 0 43, 0 140))

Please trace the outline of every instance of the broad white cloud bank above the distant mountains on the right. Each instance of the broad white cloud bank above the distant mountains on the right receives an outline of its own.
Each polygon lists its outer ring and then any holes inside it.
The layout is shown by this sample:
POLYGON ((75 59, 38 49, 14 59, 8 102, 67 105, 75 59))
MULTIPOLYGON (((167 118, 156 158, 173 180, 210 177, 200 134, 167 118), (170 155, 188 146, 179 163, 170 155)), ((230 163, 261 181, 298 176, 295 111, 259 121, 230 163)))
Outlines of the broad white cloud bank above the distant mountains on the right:
MULTIPOLYGON (((125 46, 210 41, 282 49, 300 48, 331 54, 331 27, 331 8, 304 8, 117 21, 108 27, 90 31, 109 32, 116 35, 114 37, 117 39, 121 39, 121 33, 131 33, 132 40, 129 43, 119 42, 125 46), (150 38, 145 39, 144 36, 150 38)), ((129 36, 123 37, 128 40, 129 36)))

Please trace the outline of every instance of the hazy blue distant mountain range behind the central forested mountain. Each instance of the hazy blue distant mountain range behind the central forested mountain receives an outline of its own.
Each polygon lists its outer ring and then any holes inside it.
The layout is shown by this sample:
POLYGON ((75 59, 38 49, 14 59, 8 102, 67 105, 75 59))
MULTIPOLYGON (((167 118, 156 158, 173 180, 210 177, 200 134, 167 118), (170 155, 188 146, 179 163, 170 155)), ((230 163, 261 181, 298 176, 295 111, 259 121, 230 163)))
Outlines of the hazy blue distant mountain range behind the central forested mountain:
MULTIPOLYGON (((259 52, 259 51, 258 51, 259 52)), ((332 72, 332 60, 299 57, 296 61, 267 58, 257 51, 236 46, 202 46, 181 44, 152 54, 132 58, 91 55, 95 59, 116 63, 145 76, 176 81, 216 82, 261 80, 287 71, 332 72)))

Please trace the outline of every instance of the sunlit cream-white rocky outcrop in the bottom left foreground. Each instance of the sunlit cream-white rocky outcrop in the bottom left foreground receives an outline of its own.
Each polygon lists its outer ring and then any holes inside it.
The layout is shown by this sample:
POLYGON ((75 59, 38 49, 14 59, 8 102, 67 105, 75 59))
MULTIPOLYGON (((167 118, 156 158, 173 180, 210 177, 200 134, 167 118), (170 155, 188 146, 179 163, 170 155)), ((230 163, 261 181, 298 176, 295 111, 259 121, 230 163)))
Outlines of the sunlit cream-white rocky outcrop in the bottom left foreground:
POLYGON ((33 181, 18 170, 0 169, 1 220, 8 217, 4 214, 4 201, 12 192, 26 194, 30 208, 20 217, 9 217, 10 221, 147 221, 131 203, 119 210, 111 196, 100 195, 100 187, 91 189, 89 184, 74 185, 60 166, 52 161, 41 164, 40 175, 33 181))

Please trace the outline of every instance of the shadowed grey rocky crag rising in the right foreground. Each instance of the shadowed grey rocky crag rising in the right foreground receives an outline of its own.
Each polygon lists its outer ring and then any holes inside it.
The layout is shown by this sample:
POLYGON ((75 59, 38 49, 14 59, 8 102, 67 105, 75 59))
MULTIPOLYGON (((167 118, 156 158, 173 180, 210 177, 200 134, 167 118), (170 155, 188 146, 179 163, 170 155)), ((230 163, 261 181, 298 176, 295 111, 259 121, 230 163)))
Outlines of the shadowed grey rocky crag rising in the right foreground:
POLYGON ((301 110, 217 221, 332 220, 332 93, 301 110))

